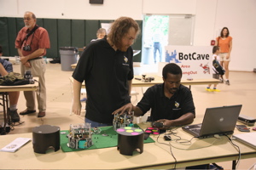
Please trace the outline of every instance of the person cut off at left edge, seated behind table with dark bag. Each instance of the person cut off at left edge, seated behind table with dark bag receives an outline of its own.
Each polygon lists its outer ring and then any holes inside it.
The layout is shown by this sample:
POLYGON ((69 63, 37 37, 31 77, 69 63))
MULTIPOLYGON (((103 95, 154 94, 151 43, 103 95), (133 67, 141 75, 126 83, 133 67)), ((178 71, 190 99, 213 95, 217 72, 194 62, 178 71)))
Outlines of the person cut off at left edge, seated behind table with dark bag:
MULTIPOLYGON (((3 55, 2 46, 0 46, 0 56, 3 55)), ((0 77, 7 75, 9 72, 13 71, 13 65, 5 60, 0 58, 0 77)), ((9 92, 9 116, 11 116, 12 122, 20 122, 20 116, 17 113, 17 103, 20 96, 20 92, 9 92)))

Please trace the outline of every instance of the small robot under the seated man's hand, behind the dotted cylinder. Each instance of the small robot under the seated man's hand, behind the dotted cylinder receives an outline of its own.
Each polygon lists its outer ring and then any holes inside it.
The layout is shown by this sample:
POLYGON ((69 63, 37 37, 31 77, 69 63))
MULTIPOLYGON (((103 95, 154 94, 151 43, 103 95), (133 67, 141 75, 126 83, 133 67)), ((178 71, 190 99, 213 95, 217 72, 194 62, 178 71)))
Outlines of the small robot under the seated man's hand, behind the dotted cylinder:
POLYGON ((123 115, 115 114, 113 116, 113 129, 117 130, 120 127, 133 127, 134 112, 131 111, 131 115, 124 113, 123 115))

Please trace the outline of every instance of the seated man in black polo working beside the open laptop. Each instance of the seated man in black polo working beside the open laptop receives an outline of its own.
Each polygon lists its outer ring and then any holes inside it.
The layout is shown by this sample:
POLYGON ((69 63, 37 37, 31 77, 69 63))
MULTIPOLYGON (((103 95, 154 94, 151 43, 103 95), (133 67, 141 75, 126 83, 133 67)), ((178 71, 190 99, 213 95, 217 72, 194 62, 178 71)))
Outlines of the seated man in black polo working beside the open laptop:
POLYGON ((162 84, 148 88, 137 106, 129 103, 113 114, 134 111, 134 116, 143 116, 151 109, 150 121, 162 122, 163 129, 193 122, 195 105, 189 88, 180 84, 182 73, 178 65, 167 64, 162 71, 162 84))

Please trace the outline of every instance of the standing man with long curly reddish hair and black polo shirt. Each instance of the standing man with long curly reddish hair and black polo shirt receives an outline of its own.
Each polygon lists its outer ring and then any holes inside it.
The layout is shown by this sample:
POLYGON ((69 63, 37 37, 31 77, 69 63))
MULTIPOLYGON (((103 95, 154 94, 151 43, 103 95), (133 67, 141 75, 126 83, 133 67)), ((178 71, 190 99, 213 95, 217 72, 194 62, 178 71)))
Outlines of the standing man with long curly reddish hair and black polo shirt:
POLYGON ((85 122, 91 127, 113 124, 113 111, 131 102, 133 50, 131 45, 140 31, 135 20, 115 20, 107 37, 90 43, 73 72, 73 112, 81 111, 79 100, 85 81, 87 101, 85 122))

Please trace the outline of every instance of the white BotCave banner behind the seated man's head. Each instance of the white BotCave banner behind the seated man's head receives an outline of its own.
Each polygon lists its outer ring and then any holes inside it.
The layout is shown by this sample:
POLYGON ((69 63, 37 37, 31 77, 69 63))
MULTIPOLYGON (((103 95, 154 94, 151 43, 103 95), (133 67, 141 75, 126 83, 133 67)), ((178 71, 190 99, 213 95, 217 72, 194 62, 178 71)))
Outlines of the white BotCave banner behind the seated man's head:
POLYGON ((183 79, 212 78, 212 46, 166 46, 166 62, 159 63, 161 75, 167 63, 176 63, 183 71, 183 79))

